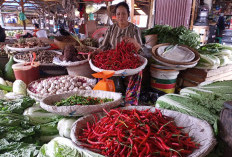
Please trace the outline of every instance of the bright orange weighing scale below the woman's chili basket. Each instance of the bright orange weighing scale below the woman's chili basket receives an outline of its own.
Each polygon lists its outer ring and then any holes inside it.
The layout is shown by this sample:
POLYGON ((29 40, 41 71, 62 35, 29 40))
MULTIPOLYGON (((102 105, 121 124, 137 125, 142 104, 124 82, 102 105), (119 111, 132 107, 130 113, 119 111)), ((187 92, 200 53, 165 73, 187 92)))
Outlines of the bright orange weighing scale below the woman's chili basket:
POLYGON ((103 90, 103 91, 115 92, 114 81, 108 79, 108 78, 112 77, 113 75, 114 75, 114 71, 102 71, 102 72, 92 74, 92 76, 95 78, 102 78, 102 80, 100 80, 95 85, 93 90, 103 90))

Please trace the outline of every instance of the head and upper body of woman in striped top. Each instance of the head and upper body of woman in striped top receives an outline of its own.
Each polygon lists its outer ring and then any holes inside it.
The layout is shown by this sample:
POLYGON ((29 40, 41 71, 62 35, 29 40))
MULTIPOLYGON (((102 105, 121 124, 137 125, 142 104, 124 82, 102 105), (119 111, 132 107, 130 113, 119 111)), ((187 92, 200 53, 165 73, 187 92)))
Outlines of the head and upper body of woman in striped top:
POLYGON ((137 26, 128 22, 130 15, 128 4, 126 2, 118 3, 115 7, 115 13, 116 23, 108 28, 105 39, 99 48, 102 50, 115 49, 117 44, 125 39, 134 43, 139 50, 142 45, 141 31, 137 26))

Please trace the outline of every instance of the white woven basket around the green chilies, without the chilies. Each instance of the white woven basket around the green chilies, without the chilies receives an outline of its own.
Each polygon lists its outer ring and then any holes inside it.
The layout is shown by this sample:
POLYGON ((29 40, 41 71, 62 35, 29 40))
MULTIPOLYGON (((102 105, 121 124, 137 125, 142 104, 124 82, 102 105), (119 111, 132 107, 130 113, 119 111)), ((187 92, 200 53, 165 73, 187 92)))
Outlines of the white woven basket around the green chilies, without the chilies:
POLYGON ((100 90, 78 90, 76 92, 69 92, 65 94, 51 95, 44 98, 40 102, 40 106, 48 112, 57 113, 64 116, 82 116, 90 113, 101 112, 102 109, 111 109, 117 107, 122 102, 121 93, 107 92, 100 90), (55 106, 54 103, 62 99, 67 99, 70 96, 78 95, 85 97, 98 97, 113 99, 111 102, 106 102, 96 105, 74 105, 74 106, 55 106))

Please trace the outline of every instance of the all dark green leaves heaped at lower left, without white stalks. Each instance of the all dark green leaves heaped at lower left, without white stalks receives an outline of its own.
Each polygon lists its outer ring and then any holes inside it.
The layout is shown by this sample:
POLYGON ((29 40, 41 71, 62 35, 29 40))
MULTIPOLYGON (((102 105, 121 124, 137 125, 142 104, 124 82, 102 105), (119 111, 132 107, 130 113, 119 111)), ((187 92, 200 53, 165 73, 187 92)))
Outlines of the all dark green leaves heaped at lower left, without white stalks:
POLYGON ((29 97, 0 100, 0 156, 36 156, 39 126, 30 124, 23 110, 35 103, 29 97))

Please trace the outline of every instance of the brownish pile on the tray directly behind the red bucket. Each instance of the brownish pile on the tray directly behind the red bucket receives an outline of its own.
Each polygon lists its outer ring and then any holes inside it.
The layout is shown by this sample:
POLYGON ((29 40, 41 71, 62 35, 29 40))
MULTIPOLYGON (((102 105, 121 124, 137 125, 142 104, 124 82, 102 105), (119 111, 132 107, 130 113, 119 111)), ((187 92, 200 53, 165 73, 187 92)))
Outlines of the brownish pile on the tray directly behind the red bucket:
MULTIPOLYGON (((15 58, 18 60, 23 60, 26 62, 30 62, 31 59, 33 58, 32 56, 33 52, 22 52, 22 53, 18 53, 15 55, 15 58)), ((53 58, 56 57, 58 54, 55 52, 51 52, 51 51, 47 51, 47 50, 40 50, 35 52, 36 53, 36 58, 35 61, 36 62, 40 62, 40 63, 52 63, 53 62, 53 58)))

